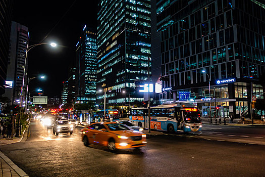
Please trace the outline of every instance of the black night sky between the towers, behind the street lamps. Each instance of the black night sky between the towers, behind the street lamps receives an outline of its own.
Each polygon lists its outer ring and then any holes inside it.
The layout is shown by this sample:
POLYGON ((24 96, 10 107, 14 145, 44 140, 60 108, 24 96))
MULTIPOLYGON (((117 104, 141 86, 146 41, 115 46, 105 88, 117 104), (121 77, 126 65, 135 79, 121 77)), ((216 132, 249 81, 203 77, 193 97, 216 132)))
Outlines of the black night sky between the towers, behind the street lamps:
POLYGON ((41 45, 28 53, 29 77, 46 77, 30 81, 29 91, 41 88, 43 96, 60 98, 62 83, 74 64, 75 47, 81 31, 86 24, 96 27, 96 19, 96 0, 15 1, 13 21, 28 27, 29 45, 50 42, 60 45, 57 48, 41 45))

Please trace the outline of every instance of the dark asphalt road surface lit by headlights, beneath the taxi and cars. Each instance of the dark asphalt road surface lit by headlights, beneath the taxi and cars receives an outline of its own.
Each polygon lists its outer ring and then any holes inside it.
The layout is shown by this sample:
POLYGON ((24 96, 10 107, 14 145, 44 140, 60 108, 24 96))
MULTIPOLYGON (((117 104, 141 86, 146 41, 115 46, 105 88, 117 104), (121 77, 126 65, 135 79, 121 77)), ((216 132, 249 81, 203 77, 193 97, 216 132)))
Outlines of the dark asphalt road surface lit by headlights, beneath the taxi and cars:
POLYGON ((32 121, 27 141, 0 150, 29 176, 265 176, 265 146, 162 135, 147 139, 142 150, 120 150, 54 136, 32 121))

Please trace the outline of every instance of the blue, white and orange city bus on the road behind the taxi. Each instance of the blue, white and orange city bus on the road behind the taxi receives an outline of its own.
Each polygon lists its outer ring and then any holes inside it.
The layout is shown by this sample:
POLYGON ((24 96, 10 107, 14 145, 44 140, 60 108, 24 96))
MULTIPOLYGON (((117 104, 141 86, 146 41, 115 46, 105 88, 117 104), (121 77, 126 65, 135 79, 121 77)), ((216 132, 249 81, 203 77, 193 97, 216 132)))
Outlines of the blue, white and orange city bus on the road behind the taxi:
MULTIPOLYGON (((130 121, 148 128, 148 108, 132 108, 130 121)), ((197 132, 202 123, 197 106, 188 103, 163 104, 150 107, 151 129, 176 132, 197 132)))

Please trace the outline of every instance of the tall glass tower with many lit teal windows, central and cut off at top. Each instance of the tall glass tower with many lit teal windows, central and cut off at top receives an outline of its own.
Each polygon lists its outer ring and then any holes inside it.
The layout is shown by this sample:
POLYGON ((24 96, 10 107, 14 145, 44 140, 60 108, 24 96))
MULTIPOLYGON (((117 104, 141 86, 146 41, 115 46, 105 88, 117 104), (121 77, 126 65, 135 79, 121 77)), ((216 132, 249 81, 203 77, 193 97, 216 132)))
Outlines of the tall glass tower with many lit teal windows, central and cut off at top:
POLYGON ((101 0, 98 7, 97 102, 104 92, 109 105, 143 101, 134 81, 147 80, 150 0, 101 0))

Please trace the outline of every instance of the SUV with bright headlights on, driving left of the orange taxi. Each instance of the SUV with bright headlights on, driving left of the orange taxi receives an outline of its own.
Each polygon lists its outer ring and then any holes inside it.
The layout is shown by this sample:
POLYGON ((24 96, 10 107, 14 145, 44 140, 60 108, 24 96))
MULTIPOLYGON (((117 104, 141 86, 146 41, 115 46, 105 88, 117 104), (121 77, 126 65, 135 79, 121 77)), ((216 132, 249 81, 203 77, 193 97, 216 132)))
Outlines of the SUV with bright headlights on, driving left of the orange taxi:
POLYGON ((56 135, 70 132, 70 135, 72 135, 73 125, 70 124, 68 120, 56 120, 52 132, 54 132, 56 135))

